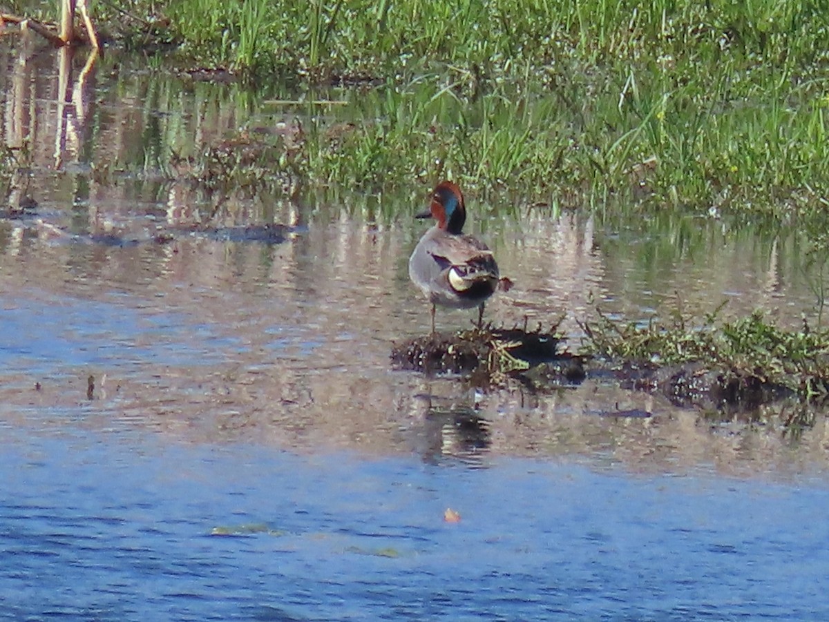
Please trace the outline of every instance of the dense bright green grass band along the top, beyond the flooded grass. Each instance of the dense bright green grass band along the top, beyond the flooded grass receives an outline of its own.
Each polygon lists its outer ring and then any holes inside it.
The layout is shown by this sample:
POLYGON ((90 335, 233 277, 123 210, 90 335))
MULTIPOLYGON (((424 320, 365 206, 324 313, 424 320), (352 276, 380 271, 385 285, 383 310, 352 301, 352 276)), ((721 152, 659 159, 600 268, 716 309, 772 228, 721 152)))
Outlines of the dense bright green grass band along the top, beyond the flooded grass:
POLYGON ((166 11, 183 39, 210 44, 218 62, 254 72, 390 75, 445 63, 497 78, 514 77, 526 63, 542 76, 572 60, 622 70, 657 62, 686 76, 731 60, 791 71, 825 58, 825 8, 793 0, 175 0, 166 11), (261 55, 241 44, 254 38, 261 55))

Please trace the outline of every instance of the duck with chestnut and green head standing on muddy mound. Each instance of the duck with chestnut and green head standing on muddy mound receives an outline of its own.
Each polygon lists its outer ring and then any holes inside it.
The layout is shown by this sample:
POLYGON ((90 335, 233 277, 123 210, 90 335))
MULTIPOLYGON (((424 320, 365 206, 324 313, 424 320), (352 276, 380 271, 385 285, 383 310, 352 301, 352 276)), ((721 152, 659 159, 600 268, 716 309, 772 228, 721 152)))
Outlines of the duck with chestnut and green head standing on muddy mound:
POLYGON ((432 335, 437 305, 453 309, 477 306, 480 329, 484 302, 502 279, 487 245, 463 234, 466 206, 461 189, 453 181, 440 182, 432 193, 429 209, 414 218, 437 221, 423 234, 409 258, 409 277, 431 303, 432 335))

